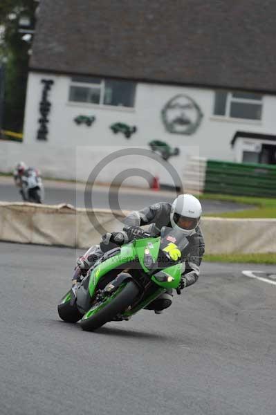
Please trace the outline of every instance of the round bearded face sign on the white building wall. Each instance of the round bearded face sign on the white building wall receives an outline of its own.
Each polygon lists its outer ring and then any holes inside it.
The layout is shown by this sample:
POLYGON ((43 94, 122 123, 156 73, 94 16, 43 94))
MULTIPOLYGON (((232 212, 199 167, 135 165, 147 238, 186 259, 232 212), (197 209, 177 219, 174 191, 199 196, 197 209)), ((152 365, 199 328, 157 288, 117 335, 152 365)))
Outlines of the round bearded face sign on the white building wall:
POLYGON ((165 129, 175 134, 193 134, 203 118, 199 105, 187 95, 176 95, 169 100, 161 115, 165 129))

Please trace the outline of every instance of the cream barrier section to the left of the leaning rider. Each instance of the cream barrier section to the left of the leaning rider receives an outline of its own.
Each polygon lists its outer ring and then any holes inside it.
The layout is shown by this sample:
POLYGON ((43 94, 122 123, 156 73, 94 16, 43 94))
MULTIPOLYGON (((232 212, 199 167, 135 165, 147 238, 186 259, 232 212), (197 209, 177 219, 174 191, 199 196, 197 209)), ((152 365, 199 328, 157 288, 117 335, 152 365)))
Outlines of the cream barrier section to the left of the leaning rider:
POLYGON ((111 210, 89 211, 72 205, 0 202, 0 241, 88 248, 98 243, 100 225, 110 231, 122 228, 125 214, 116 216, 117 220, 111 210), (91 224, 89 212, 95 214, 98 225, 91 224))

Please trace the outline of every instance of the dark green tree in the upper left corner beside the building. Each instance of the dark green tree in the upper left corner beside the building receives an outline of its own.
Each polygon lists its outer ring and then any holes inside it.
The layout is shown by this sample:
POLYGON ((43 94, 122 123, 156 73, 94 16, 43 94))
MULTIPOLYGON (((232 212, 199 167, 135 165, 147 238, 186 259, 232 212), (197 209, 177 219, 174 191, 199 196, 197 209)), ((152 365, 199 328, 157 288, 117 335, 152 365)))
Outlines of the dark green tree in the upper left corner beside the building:
POLYGON ((35 0, 0 1, 0 62, 6 61, 3 129, 23 129, 31 45, 19 30, 22 17, 30 19, 29 28, 35 27, 36 8, 35 0))

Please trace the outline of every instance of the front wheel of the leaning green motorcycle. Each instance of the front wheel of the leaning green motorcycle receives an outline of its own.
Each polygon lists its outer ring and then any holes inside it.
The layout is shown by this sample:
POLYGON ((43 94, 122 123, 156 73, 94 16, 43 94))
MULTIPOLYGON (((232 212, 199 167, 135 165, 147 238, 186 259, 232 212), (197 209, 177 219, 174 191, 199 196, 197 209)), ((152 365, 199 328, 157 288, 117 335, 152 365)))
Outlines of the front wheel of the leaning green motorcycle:
POLYGON ((122 283, 110 297, 96 303, 84 314, 80 322, 82 330, 93 331, 110 322, 134 302, 138 293, 139 288, 133 281, 122 283))

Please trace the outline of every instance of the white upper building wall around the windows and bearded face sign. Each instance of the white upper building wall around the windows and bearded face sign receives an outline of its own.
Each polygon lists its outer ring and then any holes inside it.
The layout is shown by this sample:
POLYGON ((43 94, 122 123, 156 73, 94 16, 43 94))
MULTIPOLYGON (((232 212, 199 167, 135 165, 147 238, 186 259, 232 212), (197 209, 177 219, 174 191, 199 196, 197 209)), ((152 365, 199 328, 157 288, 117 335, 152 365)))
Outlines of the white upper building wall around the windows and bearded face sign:
POLYGON ((52 102, 48 116, 50 119, 48 143, 51 145, 147 145, 150 140, 164 140, 173 146, 199 146, 201 156, 233 160, 234 153, 230 147, 230 140, 237 130, 275 132, 276 97, 274 96, 264 96, 263 119, 260 122, 221 120, 212 115, 214 91, 209 89, 140 83, 136 91, 135 109, 100 108, 93 104, 68 102, 70 77, 30 73, 24 127, 26 142, 36 140, 39 127, 37 120, 40 117, 39 102, 43 89, 42 79, 52 79, 55 82, 48 93, 48 99, 52 102), (181 93, 193 98, 203 112, 201 125, 192 136, 168 133, 161 120, 160 113, 164 105, 181 93), (73 118, 80 114, 94 115, 95 123, 91 127, 77 126, 73 118), (138 131, 129 140, 121 134, 114 135, 109 126, 119 121, 137 125, 138 131))

